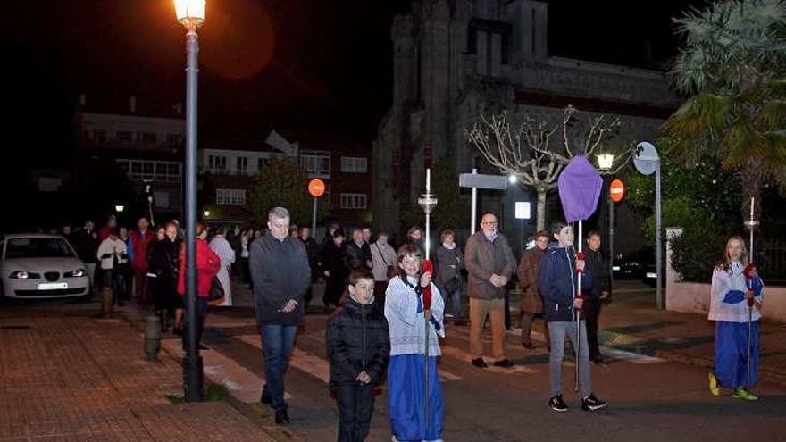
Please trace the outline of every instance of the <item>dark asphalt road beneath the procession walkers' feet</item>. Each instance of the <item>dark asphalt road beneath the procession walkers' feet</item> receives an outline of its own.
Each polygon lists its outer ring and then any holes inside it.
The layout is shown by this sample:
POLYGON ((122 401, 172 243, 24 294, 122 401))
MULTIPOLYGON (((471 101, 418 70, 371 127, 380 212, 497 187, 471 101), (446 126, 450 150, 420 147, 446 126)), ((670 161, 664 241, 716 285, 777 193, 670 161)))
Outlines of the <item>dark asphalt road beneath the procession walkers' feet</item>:
MULTIPOLYGON (((634 291, 631 296, 636 296, 634 291)), ((235 291, 242 298, 242 290, 235 291)), ((620 294, 619 296, 624 296, 620 294)), ((287 375, 291 428, 306 440, 334 440, 338 413, 326 383, 324 323, 327 316, 306 316, 287 375)), ((248 307, 212 313, 206 331, 206 371, 214 379, 238 379, 231 387, 248 402, 258 397, 262 382, 259 338, 248 307), (245 384, 245 385, 244 385, 245 384)), ((557 414, 547 407, 548 354, 543 346, 525 352, 515 330, 508 333, 514 370, 481 370, 468 363, 469 329, 450 327, 439 363, 445 396, 447 441, 625 440, 723 441, 786 439, 786 388, 763 383, 762 400, 741 403, 730 396, 707 393, 707 371, 681 363, 606 349, 613 360, 594 366, 598 396, 611 404, 601 413, 578 408, 573 365, 564 370, 565 398, 573 408, 557 414)), ((490 339, 490 337, 488 337, 490 339)), ((172 341, 174 343, 174 341, 172 341)), ((490 346, 489 346, 490 350, 490 346)), ((387 396, 377 397, 368 440, 389 440, 387 396)))

